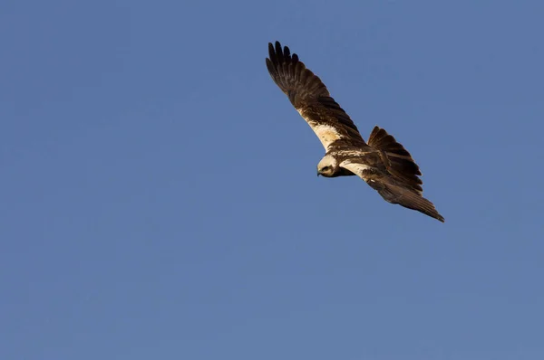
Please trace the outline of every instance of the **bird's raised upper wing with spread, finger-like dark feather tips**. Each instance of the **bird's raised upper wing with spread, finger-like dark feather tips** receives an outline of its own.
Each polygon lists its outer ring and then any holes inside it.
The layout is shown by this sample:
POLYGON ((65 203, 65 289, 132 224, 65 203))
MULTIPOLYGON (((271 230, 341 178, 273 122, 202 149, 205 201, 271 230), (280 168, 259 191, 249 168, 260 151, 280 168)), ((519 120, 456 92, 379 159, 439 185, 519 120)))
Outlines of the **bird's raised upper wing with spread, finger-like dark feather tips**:
POLYGON ((291 101, 296 111, 306 120, 310 128, 328 151, 335 146, 365 146, 364 139, 354 122, 330 97, 325 84, 291 55, 289 48, 276 42, 268 43, 267 69, 291 101))

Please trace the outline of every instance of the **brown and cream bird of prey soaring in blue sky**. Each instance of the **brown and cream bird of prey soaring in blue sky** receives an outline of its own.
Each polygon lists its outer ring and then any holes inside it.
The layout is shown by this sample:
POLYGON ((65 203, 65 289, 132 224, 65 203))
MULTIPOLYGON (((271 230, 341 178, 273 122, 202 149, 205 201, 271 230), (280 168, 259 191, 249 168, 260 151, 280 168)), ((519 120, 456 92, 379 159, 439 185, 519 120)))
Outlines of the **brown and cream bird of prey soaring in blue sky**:
POLYGON ((267 70, 280 90, 325 147, 317 164, 324 177, 359 176, 391 204, 424 213, 444 223, 423 197, 423 181, 412 155, 384 128, 374 126, 364 141, 352 119, 314 72, 281 43, 268 43, 267 70))

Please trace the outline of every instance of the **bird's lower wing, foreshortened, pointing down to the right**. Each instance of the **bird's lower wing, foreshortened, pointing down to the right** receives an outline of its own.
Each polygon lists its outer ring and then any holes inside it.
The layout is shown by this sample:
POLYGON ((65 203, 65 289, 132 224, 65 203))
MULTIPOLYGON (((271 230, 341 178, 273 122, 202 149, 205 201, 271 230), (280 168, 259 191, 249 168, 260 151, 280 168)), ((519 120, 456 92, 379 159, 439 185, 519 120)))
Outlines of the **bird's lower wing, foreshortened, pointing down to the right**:
POLYGON ((363 164, 356 158, 345 160, 340 166, 361 177, 366 184, 382 195, 386 202, 416 210, 444 223, 443 216, 421 192, 397 182, 393 176, 384 174, 374 166, 363 164))

